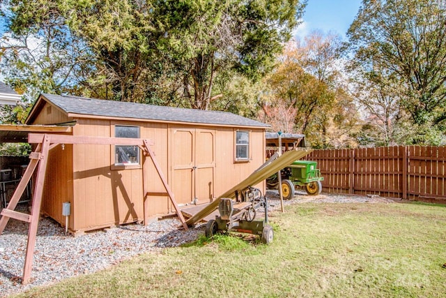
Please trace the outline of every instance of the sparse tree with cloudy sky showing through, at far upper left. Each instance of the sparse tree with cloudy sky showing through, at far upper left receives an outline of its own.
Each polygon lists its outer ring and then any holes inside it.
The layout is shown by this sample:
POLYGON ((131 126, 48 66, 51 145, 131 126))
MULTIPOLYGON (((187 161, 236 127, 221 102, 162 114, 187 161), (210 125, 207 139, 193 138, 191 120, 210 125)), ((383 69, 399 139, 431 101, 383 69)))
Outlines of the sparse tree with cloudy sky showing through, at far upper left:
POLYGON ((20 94, 64 93, 79 83, 85 45, 52 1, 2 1, 9 31, 0 40, 1 74, 20 94))

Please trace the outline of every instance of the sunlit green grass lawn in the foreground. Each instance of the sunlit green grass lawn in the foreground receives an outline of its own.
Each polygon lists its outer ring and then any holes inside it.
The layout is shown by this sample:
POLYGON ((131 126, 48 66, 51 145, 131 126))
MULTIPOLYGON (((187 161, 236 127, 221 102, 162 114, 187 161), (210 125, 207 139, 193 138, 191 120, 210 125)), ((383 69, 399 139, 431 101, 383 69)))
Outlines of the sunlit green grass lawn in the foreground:
POLYGON ((296 204, 275 238, 201 237, 23 297, 445 297, 446 207, 296 204))

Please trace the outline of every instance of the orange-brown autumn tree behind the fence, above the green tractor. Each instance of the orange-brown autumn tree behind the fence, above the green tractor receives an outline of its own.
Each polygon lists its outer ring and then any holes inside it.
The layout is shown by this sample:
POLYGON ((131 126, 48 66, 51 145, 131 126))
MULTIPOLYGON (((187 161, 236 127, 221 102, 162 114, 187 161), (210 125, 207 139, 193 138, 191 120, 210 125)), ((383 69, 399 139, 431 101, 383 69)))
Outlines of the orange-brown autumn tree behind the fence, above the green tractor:
POLYGON ((261 102, 268 123, 286 124, 283 112, 294 114, 293 132, 304 133, 314 147, 355 146, 350 133, 357 113, 334 67, 341 45, 334 40, 314 32, 305 43, 290 42, 268 77, 270 97, 261 102))

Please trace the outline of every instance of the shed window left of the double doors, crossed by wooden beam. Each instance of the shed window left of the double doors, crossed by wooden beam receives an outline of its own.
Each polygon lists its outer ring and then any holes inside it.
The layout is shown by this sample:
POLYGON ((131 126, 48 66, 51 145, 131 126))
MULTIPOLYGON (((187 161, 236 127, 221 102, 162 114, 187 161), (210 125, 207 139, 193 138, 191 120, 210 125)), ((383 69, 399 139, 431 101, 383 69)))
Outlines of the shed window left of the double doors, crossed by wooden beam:
MULTIPOLYGON (((139 138, 139 126, 114 126, 115 137, 139 138)), ((139 165, 139 147, 121 146, 115 147, 115 165, 139 165)))

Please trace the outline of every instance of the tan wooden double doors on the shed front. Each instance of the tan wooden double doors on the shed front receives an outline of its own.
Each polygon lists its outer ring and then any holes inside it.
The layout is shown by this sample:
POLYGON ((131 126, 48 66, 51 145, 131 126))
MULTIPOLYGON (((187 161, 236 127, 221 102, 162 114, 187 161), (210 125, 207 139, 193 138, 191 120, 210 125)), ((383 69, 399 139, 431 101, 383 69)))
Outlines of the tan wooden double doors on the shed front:
POLYGON ((178 204, 214 196, 215 130, 171 128, 171 188, 178 204))

